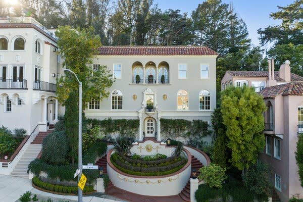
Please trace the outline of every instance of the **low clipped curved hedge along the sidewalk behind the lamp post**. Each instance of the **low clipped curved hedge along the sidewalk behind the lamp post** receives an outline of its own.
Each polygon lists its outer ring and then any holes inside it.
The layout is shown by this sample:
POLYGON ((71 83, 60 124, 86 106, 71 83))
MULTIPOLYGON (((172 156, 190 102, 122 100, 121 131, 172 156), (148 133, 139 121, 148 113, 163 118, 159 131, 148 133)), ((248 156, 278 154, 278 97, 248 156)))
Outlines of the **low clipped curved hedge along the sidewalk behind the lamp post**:
MULTIPOLYGON (((67 193, 67 194, 78 194, 77 186, 63 186, 63 185, 51 184, 48 182, 41 181, 38 177, 33 177, 32 182, 37 187, 48 190, 48 191, 55 191, 55 192, 67 193)), ((90 193, 92 191, 95 191, 95 190, 93 189, 93 186, 91 186, 91 185, 85 186, 83 189, 83 193, 90 193)))

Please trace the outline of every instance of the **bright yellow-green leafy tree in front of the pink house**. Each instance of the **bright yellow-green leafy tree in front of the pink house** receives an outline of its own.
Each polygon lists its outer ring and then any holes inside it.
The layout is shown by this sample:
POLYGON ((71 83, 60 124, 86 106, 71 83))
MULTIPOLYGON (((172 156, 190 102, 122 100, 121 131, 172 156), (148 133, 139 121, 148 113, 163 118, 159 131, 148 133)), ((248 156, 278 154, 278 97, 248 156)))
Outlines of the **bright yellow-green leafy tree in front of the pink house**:
POLYGON ((229 87, 222 93, 222 118, 232 166, 242 170, 256 164, 265 139, 263 98, 249 87, 229 87))

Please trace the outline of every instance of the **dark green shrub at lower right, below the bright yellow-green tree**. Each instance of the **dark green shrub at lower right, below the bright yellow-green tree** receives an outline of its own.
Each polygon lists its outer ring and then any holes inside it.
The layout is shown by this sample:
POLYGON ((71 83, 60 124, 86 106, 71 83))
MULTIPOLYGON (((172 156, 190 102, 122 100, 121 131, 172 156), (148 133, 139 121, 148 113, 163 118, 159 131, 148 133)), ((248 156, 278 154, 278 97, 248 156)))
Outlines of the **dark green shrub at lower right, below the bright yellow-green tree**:
POLYGON ((269 179, 270 170, 262 162, 252 166, 243 176, 243 183, 247 189, 256 194, 270 195, 273 189, 269 179))

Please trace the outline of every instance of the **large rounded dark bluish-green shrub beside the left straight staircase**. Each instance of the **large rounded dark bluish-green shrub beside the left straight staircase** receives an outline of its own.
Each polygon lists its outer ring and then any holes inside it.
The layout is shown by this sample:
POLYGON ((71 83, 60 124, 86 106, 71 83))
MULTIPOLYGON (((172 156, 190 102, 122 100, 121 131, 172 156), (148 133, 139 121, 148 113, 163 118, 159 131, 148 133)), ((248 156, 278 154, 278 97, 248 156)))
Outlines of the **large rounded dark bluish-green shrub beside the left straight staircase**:
POLYGON ((66 134, 64 132, 53 132, 43 140, 41 159, 53 165, 66 164, 68 150, 66 134))

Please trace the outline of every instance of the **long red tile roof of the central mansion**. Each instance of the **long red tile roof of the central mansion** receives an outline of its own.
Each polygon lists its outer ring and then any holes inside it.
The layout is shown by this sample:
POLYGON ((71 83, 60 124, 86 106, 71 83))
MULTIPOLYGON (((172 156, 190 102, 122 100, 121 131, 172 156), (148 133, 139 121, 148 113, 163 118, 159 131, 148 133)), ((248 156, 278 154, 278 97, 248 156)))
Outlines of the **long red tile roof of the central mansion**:
POLYGON ((217 56, 206 46, 101 46, 102 56, 217 56))

